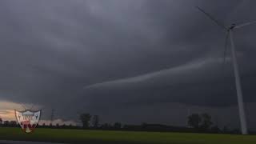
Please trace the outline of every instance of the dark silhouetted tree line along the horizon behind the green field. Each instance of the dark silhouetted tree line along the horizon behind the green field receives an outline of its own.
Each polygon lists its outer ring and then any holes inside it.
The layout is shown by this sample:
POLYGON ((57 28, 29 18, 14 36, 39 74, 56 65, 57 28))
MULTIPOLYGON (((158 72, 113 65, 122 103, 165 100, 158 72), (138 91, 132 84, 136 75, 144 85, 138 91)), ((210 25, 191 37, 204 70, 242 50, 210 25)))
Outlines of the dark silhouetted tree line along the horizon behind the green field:
MULTIPOLYGON (((38 124, 37 127, 52 129, 87 129, 87 130, 132 130, 132 131, 162 131, 162 132, 194 132, 194 133, 214 133, 214 134, 240 134, 240 130, 231 130, 227 126, 219 128, 214 125, 210 114, 190 114, 187 117, 188 126, 167 126, 155 123, 142 123, 141 125, 128 125, 121 122, 101 123, 98 115, 83 113, 79 115, 82 126, 74 126, 72 124, 56 124, 46 125, 38 124)), ((0 126, 17 127, 16 121, 3 121, 0 118, 0 126)), ((250 131, 250 134, 256 134, 250 131)))

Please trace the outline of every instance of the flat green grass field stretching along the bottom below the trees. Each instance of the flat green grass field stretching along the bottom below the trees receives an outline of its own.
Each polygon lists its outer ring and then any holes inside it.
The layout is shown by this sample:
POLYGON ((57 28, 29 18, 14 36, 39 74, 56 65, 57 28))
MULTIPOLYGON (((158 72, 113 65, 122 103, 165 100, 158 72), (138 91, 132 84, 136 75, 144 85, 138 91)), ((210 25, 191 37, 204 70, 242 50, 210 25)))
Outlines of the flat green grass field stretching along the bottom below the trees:
POLYGON ((256 135, 187 134, 161 132, 127 132, 103 130, 58 130, 38 128, 25 134, 20 128, 0 128, 2 140, 26 140, 66 143, 146 143, 146 144, 256 144, 256 135))

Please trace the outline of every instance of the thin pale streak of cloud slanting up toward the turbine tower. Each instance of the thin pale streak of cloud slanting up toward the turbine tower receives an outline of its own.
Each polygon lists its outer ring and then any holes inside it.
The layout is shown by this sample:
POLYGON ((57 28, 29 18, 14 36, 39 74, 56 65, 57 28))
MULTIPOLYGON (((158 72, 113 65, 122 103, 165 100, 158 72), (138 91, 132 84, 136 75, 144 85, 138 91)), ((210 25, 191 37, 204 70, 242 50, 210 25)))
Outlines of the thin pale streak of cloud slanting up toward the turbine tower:
MULTIPOLYGON (((197 81, 200 81, 199 78, 202 78, 202 79, 213 78, 213 77, 210 77, 213 75, 209 73, 211 72, 210 70, 205 71, 202 68, 206 68, 206 66, 212 66, 212 63, 217 63, 217 62, 219 64, 222 61, 220 61, 220 58, 203 59, 199 62, 189 62, 182 66, 177 66, 167 70, 160 70, 150 74, 142 74, 140 76, 136 76, 133 78, 124 78, 124 79, 118 79, 110 82, 96 83, 91 86, 86 86, 85 89, 97 89, 97 88, 101 89, 105 87, 114 89, 114 87, 118 87, 122 85, 124 86, 137 86, 137 85, 156 86, 161 82, 166 82, 172 85, 175 85, 178 83, 184 83, 184 82, 197 82, 197 81), (194 73, 195 70, 197 70, 197 73, 202 72, 203 74, 206 74, 206 76, 205 77, 203 77, 202 75, 198 75, 199 77, 190 76, 190 74, 194 73), (172 78, 169 79, 168 77, 172 77, 172 78)), ((218 76, 218 74, 214 74, 214 75, 218 76)))

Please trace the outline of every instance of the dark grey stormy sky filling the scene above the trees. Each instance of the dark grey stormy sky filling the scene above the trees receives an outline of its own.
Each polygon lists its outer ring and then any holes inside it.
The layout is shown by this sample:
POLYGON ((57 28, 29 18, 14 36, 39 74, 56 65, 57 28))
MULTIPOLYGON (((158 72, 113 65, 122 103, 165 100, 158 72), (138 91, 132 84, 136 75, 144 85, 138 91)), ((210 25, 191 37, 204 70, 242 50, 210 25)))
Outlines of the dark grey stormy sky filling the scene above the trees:
MULTIPOLYGON (((190 106, 228 111, 236 106, 236 93, 230 49, 223 65, 225 31, 194 6, 230 25, 255 20, 255 5, 249 0, 2 0, 1 99, 55 108, 62 118, 90 111, 125 122, 155 116, 159 119, 152 122, 166 122, 162 119, 172 118, 166 110, 185 114, 190 106)), ((250 103, 256 101, 255 32, 256 26, 247 26, 234 34, 250 103)))

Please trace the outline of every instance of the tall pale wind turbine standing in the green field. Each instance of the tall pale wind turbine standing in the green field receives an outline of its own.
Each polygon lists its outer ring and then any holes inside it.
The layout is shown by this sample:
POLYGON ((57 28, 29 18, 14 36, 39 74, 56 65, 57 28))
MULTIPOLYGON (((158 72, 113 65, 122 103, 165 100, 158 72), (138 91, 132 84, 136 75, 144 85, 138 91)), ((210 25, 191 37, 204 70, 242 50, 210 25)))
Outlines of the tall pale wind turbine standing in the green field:
POLYGON ((230 43, 231 43, 231 55, 232 55, 232 62, 234 67, 234 78, 235 78, 235 86, 237 90, 238 95, 238 109, 239 109, 239 117, 240 117, 240 123, 241 123, 241 130, 242 134, 248 134, 247 131, 247 124, 246 124, 246 114, 244 110, 244 103, 242 98, 242 88, 241 88, 241 82, 239 77, 239 70, 238 70, 238 62, 236 57, 236 51, 234 47, 234 38, 233 38, 233 32, 236 29, 242 28, 244 26, 249 26, 253 23, 256 23, 256 21, 253 22, 246 22, 240 25, 231 24, 230 26, 224 26, 221 22, 218 22, 213 16, 206 13, 205 10, 202 10, 200 7, 196 7, 198 10, 200 10, 203 14, 205 14, 210 20, 212 20, 214 23, 216 23, 220 28, 223 30, 226 30, 226 44, 225 44, 225 50, 224 50, 224 62, 226 58, 226 48, 227 48, 227 42, 228 38, 230 37, 230 43))

